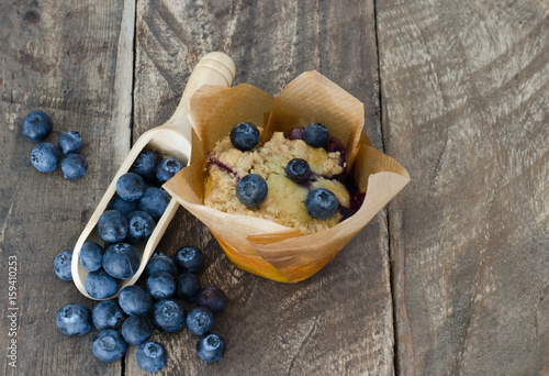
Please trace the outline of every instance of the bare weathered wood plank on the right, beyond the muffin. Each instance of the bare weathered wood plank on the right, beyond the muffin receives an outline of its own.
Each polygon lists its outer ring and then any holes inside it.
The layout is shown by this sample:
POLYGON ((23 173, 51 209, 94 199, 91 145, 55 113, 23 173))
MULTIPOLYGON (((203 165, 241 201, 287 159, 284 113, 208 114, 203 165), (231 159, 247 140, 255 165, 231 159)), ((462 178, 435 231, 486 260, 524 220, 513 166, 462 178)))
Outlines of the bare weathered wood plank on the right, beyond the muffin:
POLYGON ((549 3, 379 1, 401 375, 549 374, 549 3))

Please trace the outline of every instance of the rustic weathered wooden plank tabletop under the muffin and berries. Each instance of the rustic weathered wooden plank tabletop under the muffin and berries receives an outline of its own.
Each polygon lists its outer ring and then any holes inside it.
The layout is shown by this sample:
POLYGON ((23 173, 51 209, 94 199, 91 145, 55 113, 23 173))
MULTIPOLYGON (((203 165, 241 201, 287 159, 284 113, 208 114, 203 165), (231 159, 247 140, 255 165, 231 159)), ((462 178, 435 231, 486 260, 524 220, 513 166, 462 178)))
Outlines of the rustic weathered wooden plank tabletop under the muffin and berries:
POLYGON ((365 103, 373 145, 412 181, 296 285, 235 268, 180 209, 159 250, 203 248, 202 284, 229 297, 215 324, 228 349, 206 364, 187 331, 156 333, 169 351, 163 375, 549 375, 547 0, 2 0, 4 374, 145 374, 135 347, 105 364, 92 334, 56 329, 61 306, 93 303, 55 276, 53 259, 210 51, 235 60, 235 84, 272 95, 321 71, 365 103), (54 120, 47 141, 81 133, 83 179, 32 167, 21 122, 35 109, 54 120))

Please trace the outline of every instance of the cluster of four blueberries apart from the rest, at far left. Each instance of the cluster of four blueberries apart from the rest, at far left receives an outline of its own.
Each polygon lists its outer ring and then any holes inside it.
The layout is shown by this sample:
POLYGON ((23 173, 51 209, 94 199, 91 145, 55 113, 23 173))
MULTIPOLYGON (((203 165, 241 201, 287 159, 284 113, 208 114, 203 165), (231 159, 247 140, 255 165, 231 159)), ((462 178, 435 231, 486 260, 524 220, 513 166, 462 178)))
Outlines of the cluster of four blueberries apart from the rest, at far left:
MULTIPOLYGON (((23 120, 23 135, 32 142, 45 140, 53 130, 49 115, 43 111, 32 111, 23 120)), ((41 173, 52 173, 57 169, 61 158, 64 176, 70 180, 82 178, 88 170, 88 162, 80 154, 83 148, 82 139, 78 132, 63 133, 57 140, 57 146, 49 142, 41 142, 31 152, 31 163, 41 173)))

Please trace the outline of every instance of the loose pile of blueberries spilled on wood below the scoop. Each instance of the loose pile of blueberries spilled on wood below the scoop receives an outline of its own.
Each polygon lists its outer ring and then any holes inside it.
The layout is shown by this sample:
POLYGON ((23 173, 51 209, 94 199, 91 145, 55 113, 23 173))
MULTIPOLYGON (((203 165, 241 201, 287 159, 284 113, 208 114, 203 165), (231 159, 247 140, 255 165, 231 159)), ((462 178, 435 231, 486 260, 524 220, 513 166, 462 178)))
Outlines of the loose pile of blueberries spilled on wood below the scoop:
POLYGON ((194 246, 182 247, 173 259, 155 254, 145 268, 144 287, 126 286, 117 300, 103 300, 92 311, 83 305, 66 305, 57 312, 57 328, 76 336, 88 333, 93 324, 100 332, 91 349, 99 360, 114 362, 125 354, 127 345, 138 346, 138 365, 157 372, 166 366, 168 354, 161 343, 150 341, 154 328, 172 333, 187 325, 199 335, 197 354, 205 362, 216 362, 225 353, 225 340, 211 330, 227 297, 217 287, 201 288, 197 274, 203 267, 204 255, 194 246), (195 306, 187 313, 183 302, 195 306))

